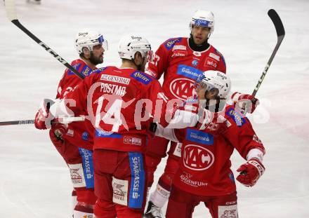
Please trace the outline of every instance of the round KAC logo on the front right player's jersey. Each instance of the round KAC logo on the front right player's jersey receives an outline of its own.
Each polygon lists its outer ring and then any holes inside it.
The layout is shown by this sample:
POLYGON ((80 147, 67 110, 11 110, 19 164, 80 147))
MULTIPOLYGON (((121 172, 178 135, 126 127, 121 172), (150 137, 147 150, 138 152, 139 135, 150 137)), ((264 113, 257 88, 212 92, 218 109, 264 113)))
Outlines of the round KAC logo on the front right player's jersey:
POLYGON ((183 163, 190 170, 206 170, 215 160, 209 149, 195 144, 188 144, 183 150, 183 163))

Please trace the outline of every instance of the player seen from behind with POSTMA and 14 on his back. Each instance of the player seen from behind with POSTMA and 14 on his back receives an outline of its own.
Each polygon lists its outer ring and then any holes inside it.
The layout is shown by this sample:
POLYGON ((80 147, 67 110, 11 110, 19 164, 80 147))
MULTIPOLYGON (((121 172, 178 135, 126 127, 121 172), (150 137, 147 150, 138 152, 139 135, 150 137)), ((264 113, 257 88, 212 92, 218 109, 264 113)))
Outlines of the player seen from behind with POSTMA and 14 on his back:
POLYGON ((98 218, 142 217, 147 188, 143 152, 150 121, 168 128, 197 122, 197 114, 190 107, 189 111, 186 107, 182 111, 176 109, 159 82, 143 72, 147 60, 153 57, 150 49, 150 43, 142 36, 125 36, 118 48, 121 67, 93 71, 64 100, 55 102, 50 109, 42 107, 36 116, 37 128, 44 129, 47 118, 53 115, 88 114, 96 128, 93 165, 98 200, 94 214, 98 218), (63 111, 67 100, 76 104, 67 105, 63 111))

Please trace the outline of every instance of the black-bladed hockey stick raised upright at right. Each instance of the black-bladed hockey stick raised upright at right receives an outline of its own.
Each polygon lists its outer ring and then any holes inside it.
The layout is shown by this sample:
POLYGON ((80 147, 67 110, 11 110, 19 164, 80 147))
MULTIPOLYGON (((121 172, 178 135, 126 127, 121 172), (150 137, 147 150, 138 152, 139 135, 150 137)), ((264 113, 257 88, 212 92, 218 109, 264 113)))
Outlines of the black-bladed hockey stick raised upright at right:
POLYGON ((272 55, 270 56, 270 59, 268 60, 267 64, 266 64, 266 67, 264 68, 263 70, 263 73, 260 77, 260 79, 258 80, 258 84, 256 85, 256 88, 254 88, 254 92, 252 93, 253 96, 256 96, 256 93, 258 92, 258 88, 260 88, 266 74, 267 74, 267 71, 270 67, 270 64, 272 63, 272 60, 274 59, 276 53, 277 53, 277 50, 279 49, 281 43, 282 43, 282 40, 284 38, 284 35, 285 35, 285 31, 284 31, 284 27, 282 25, 282 21, 279 17, 279 15, 277 14, 277 12, 274 10, 274 9, 270 9, 268 11, 268 16, 270 17, 270 19, 272 20, 273 24, 275 25, 275 28, 276 28, 276 32, 277 32, 277 44, 274 48, 274 50, 272 51, 272 55))

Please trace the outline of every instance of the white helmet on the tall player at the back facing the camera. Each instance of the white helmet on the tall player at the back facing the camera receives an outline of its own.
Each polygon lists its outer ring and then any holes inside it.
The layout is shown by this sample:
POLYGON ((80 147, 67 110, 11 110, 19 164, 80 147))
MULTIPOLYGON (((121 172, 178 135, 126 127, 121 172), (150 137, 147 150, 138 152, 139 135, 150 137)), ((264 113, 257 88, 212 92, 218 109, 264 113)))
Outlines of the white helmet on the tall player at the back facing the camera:
POLYGON ((209 27, 210 28, 209 34, 211 34, 215 26, 215 18, 213 16, 213 13, 211 11, 203 11, 203 10, 195 11, 195 14, 192 16, 190 21, 191 31, 193 25, 209 27))

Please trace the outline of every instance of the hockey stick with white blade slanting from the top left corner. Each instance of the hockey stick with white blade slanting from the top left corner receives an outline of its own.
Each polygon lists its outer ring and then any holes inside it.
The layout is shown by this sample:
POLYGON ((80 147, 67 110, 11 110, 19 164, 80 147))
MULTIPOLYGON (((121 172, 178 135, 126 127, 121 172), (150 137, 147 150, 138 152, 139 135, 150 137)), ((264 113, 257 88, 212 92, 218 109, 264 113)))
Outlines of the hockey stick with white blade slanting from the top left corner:
POLYGON ((74 67, 72 67, 67 61, 65 61, 63 59, 63 57, 60 57, 60 55, 58 55, 57 53, 55 53, 55 51, 53 51, 51 48, 49 48, 46 43, 42 42, 41 40, 39 40, 37 38, 37 36, 34 36, 34 34, 32 34, 32 32, 29 32, 28 29, 26 29, 24 26, 22 26, 22 24, 19 22, 17 15, 16 15, 16 11, 15 11, 15 0, 5 0, 5 4, 6 4, 6 15, 8 16, 8 19, 11 20, 11 22, 13 22, 13 24, 18 27, 19 29, 22 30, 22 32, 25 32, 25 34, 27 34, 31 39, 33 39, 34 41, 36 41, 40 46, 42 46, 45 50, 48 51, 48 53, 50 53, 51 55, 53 55, 53 57, 55 57, 55 59, 57 59, 59 62, 61 62, 63 65, 65 65, 65 67, 67 67, 68 69, 70 69, 74 74, 76 74, 80 79, 84 79, 84 75, 80 74, 79 71, 77 71, 76 69, 74 69, 74 67))

